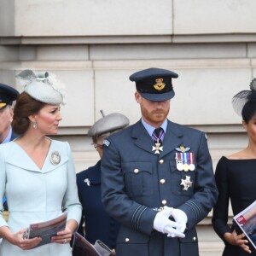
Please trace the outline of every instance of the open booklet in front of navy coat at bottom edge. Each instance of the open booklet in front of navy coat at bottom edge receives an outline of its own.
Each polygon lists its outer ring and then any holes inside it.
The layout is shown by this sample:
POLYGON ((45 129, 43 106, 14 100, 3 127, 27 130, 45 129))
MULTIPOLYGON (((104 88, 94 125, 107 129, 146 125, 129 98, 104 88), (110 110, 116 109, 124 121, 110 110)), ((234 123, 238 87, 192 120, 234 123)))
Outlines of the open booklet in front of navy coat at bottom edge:
POLYGON ((78 232, 73 238, 73 253, 79 256, 112 256, 113 251, 102 241, 97 240, 95 244, 91 244, 78 232))

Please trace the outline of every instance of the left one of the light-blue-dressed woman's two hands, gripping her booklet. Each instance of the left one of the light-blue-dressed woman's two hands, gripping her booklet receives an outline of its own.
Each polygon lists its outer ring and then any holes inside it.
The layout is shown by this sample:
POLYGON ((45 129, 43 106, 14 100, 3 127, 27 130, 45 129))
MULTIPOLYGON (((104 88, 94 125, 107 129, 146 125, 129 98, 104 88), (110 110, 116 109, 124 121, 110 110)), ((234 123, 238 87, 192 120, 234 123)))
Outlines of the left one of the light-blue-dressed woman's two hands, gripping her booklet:
POLYGON ((41 237, 34 237, 32 239, 24 239, 23 235, 26 229, 20 230, 16 234, 13 235, 11 242, 15 244, 17 247, 20 247, 22 250, 29 250, 33 247, 36 247, 40 241, 42 241, 41 237))

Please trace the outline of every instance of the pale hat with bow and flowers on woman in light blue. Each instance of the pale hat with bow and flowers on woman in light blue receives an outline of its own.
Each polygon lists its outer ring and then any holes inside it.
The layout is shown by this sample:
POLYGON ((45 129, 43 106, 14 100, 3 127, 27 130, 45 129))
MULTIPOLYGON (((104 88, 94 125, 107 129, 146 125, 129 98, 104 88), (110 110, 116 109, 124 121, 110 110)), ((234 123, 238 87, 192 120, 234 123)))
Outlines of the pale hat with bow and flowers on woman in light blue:
MULTIPOLYGON (((21 71, 15 78, 25 81, 24 91, 33 99, 50 105, 64 105, 65 86, 53 73, 34 73, 31 69, 21 71)), ((23 83, 22 83, 23 84, 23 83)))

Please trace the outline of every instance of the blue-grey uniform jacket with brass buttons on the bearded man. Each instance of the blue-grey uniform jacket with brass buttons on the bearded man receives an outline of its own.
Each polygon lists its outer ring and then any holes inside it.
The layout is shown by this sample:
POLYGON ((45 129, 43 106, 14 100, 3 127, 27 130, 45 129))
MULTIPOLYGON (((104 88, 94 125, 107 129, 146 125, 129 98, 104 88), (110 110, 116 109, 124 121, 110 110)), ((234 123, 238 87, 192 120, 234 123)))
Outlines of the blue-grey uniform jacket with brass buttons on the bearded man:
POLYGON ((155 154, 153 146, 141 121, 104 142, 102 202, 121 224, 117 255, 197 256, 195 224, 207 217, 218 197, 206 135, 168 120, 163 151, 155 154), (194 153, 194 171, 177 170, 180 148, 194 153), (188 179, 192 183, 186 190, 181 183, 188 179), (154 230, 155 208, 164 206, 186 213, 185 238, 154 230))

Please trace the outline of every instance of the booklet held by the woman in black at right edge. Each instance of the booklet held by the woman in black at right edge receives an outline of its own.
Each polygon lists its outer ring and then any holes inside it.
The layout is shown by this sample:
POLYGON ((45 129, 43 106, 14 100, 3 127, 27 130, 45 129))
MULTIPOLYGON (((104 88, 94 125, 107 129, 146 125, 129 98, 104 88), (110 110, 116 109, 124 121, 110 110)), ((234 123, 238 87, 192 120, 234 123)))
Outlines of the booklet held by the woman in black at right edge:
POLYGON ((247 236, 247 239, 256 249, 256 201, 236 214, 233 218, 233 222, 247 236))

